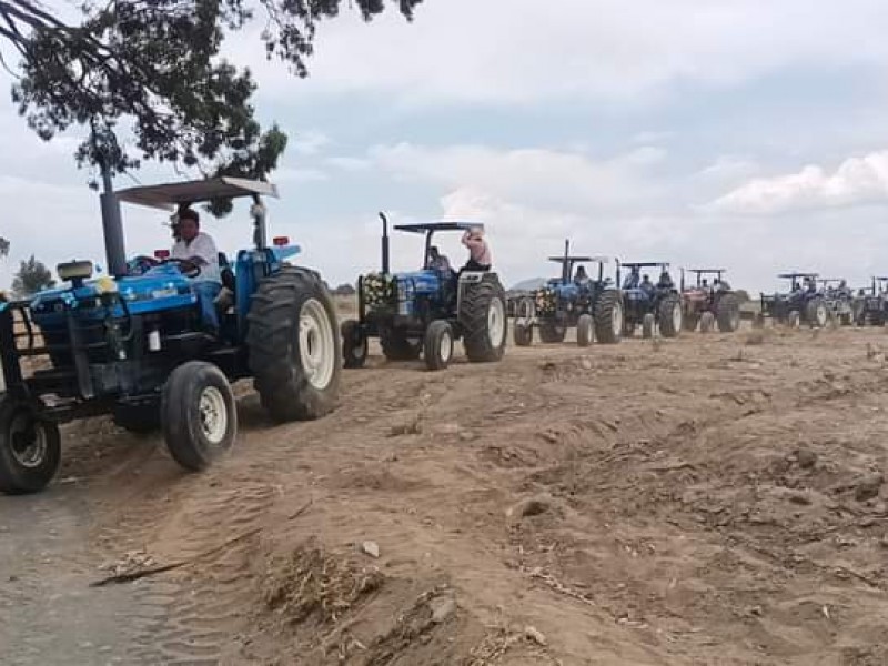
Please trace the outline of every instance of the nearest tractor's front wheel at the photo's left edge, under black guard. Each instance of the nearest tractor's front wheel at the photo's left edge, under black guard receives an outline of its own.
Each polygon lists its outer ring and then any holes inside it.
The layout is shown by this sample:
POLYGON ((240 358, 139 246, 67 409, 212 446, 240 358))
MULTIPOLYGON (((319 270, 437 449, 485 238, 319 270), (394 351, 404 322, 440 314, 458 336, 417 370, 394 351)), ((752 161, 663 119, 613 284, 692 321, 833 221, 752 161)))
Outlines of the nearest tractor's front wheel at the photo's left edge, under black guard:
POLYGON ((8 495, 40 492, 59 471, 59 426, 41 418, 39 407, 0 398, 0 492, 8 495))

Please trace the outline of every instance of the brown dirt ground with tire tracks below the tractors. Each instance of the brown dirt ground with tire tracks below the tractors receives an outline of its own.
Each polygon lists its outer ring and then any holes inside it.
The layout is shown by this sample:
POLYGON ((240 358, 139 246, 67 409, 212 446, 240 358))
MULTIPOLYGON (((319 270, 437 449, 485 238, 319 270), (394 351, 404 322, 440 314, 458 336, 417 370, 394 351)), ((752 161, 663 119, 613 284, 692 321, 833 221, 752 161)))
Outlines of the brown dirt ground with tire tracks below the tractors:
POLYGON ((377 359, 315 423, 245 391, 196 476, 78 424, 59 483, 0 497, 2 663, 888 663, 886 351, 824 330, 377 359))

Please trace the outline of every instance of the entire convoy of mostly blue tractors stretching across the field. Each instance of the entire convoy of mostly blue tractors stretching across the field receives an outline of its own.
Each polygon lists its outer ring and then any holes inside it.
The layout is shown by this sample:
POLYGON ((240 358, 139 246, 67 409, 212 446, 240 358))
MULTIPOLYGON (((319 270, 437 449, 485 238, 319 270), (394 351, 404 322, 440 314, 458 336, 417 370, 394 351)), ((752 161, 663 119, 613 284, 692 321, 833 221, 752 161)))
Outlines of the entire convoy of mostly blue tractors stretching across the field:
MULTIPOLYGON (((423 268, 393 272, 389 220, 382 221, 381 270, 357 280, 357 315, 340 324, 321 275, 294 265, 299 245, 269 235, 268 182, 216 178, 131 188, 103 195, 109 274, 90 261, 58 266, 63 282, 23 300, 0 302, 0 492, 33 493, 61 461, 60 425, 111 415, 133 433, 161 432, 173 460, 200 471, 228 451, 238 433, 232 383, 252 380, 275 422, 314 420, 339 402, 342 372, 362 367, 375 339, 390 361, 418 361, 430 371, 450 364, 461 341, 470 362, 503 359, 509 319, 514 344, 616 344, 683 331, 736 331, 741 302, 724 269, 682 269, 576 255, 565 242, 549 258, 561 274, 539 289, 507 294, 490 266, 454 271, 430 261, 441 233, 475 233, 474 222, 395 225, 424 240, 423 268), (183 206, 246 199, 253 243, 219 255, 218 330, 208 332, 194 280, 201 268, 169 252, 128 259, 120 203, 182 211, 183 206), (587 273, 592 266, 592 275, 587 273), (613 274, 606 274, 613 266, 613 274), (648 271, 654 272, 656 282, 648 271)), ((784 293, 761 296, 755 324, 798 326, 888 321, 887 278, 852 294, 844 281, 787 273, 784 293)))

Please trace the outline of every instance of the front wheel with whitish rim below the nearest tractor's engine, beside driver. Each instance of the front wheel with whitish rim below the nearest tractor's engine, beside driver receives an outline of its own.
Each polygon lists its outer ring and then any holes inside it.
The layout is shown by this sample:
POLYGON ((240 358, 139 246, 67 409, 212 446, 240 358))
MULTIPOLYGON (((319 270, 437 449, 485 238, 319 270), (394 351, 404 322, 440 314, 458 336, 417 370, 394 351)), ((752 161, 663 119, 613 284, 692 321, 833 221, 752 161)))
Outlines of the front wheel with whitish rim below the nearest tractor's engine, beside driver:
POLYGON ((185 470, 205 470, 234 444, 234 392, 212 363, 189 361, 176 367, 163 385, 160 413, 167 448, 185 470))

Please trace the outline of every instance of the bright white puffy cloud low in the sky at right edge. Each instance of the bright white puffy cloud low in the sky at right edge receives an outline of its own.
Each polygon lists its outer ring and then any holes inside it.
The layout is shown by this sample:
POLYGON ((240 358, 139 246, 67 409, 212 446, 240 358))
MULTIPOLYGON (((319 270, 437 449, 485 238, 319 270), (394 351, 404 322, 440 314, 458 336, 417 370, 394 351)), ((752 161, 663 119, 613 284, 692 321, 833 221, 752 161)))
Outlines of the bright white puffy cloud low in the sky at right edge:
POLYGON ((798 173, 756 179, 706 208, 768 215, 868 203, 888 203, 888 151, 850 158, 833 173, 809 164, 798 173))

